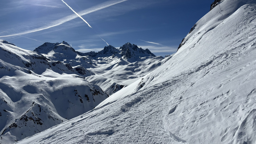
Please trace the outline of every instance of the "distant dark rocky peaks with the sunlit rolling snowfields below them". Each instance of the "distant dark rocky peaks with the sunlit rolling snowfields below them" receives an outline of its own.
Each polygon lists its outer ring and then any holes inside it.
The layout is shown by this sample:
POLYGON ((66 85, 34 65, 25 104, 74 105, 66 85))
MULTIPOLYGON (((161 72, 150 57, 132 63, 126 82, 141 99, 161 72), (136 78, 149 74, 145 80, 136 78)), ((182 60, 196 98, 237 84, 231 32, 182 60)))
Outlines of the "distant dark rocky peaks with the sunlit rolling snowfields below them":
POLYGON ((70 68, 81 69, 78 71, 81 76, 99 85, 109 95, 152 72, 170 58, 157 57, 148 49, 129 42, 119 49, 109 45, 99 52, 81 53, 63 41, 44 43, 34 51, 70 68))

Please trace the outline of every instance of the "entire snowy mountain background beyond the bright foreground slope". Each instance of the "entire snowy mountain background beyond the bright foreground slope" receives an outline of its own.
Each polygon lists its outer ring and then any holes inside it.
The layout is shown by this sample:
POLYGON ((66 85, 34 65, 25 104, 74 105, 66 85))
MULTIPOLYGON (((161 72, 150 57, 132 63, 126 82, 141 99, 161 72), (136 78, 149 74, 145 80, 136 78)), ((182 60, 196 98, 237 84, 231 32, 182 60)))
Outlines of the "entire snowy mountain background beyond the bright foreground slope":
POLYGON ((92 58, 79 55, 65 41, 29 51, 0 40, 0 143, 24 139, 88 112, 167 60, 132 46, 139 62, 124 58, 112 46, 92 58), (95 80, 101 77, 105 79, 95 80))

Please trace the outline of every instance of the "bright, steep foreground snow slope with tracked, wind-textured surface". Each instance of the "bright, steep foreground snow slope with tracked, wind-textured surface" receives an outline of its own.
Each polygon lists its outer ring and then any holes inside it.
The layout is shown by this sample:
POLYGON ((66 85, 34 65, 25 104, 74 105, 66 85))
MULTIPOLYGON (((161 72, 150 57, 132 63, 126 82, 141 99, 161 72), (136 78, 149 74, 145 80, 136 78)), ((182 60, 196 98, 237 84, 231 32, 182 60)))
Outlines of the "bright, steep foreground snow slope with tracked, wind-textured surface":
POLYGON ((18 143, 255 144, 255 3, 222 1, 158 69, 18 143))

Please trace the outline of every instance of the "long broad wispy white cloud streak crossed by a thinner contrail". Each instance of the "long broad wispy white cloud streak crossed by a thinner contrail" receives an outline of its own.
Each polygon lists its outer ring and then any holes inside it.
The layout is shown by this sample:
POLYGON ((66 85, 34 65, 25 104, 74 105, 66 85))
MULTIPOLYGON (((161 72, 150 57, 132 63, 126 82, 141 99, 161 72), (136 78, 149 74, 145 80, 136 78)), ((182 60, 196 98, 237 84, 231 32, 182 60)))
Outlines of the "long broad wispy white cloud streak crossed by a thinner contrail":
MULTIPOLYGON (((97 5, 97 6, 94 6, 94 7, 91 7, 89 9, 83 10, 83 11, 79 12, 79 15, 83 16, 83 15, 86 15, 86 14, 89 14, 89 13, 92 13, 92 12, 95 12, 95 11, 99 11, 101 9, 104 9, 104 8, 116 5, 116 4, 124 2, 124 1, 127 1, 127 0, 107 1, 107 2, 101 3, 101 4, 97 5)), ((49 29, 49 28, 52 28, 52 27, 55 27, 55 26, 59 26, 59 25, 65 23, 65 22, 73 20, 73 19, 75 19, 77 17, 78 16, 76 14, 72 14, 72 15, 66 16, 64 18, 61 18, 59 20, 53 21, 51 24, 43 26, 43 27, 39 27, 39 28, 36 28, 36 29, 32 29, 32 30, 28 30, 28 31, 24 31, 24 32, 16 33, 16 34, 4 35, 4 36, 0 36, 0 37, 17 36, 17 35, 23 35, 23 34, 28 34, 28 33, 33 33, 33 32, 37 32, 37 31, 46 30, 46 29, 49 29)))

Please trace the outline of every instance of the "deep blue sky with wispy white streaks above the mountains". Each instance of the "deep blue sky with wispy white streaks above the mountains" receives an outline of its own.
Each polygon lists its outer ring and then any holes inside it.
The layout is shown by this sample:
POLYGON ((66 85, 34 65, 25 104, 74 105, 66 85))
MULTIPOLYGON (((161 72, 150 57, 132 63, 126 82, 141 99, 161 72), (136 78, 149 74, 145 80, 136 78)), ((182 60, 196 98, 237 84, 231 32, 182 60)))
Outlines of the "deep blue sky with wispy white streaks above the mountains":
POLYGON ((164 56, 177 51, 214 0, 64 1, 92 28, 61 0, 1 0, 0 39, 28 50, 66 41, 80 52, 130 42, 164 56))

